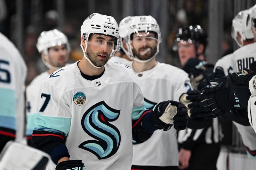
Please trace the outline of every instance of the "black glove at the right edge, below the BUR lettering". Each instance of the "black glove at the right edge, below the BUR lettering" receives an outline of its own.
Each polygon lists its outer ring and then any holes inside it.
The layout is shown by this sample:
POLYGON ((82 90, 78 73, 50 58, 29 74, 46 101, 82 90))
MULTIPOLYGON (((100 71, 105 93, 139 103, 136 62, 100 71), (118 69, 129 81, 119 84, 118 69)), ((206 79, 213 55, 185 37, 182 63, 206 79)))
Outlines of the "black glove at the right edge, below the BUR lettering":
POLYGON ((249 81, 255 75, 256 72, 249 69, 244 69, 240 75, 233 73, 231 76, 229 76, 230 87, 235 92, 243 107, 247 107, 248 105, 248 100, 251 96, 251 92, 249 90, 249 81))

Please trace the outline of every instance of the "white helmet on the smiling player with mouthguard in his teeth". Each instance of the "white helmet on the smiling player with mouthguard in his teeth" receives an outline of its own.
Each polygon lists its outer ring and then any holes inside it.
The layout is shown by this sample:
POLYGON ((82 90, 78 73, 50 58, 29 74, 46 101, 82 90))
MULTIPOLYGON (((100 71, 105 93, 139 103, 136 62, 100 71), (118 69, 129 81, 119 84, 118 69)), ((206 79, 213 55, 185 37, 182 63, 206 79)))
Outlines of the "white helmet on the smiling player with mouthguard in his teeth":
POLYGON ((157 53, 159 53, 159 44, 161 43, 162 38, 161 38, 161 32, 160 32, 160 28, 159 25, 156 22, 156 19, 153 18, 151 15, 148 16, 135 16, 132 18, 132 22, 128 28, 128 42, 129 42, 129 50, 132 54, 132 60, 135 60, 137 62, 140 63, 147 63, 148 61, 152 60, 153 57, 156 56, 157 53), (153 55, 151 58, 147 59, 147 60, 139 60, 137 58, 135 58, 132 54, 132 48, 131 48, 131 41, 132 41, 132 36, 133 33, 138 33, 140 31, 145 31, 145 32, 155 32, 156 33, 156 39, 158 41, 157 44, 157 50, 155 55, 153 55))

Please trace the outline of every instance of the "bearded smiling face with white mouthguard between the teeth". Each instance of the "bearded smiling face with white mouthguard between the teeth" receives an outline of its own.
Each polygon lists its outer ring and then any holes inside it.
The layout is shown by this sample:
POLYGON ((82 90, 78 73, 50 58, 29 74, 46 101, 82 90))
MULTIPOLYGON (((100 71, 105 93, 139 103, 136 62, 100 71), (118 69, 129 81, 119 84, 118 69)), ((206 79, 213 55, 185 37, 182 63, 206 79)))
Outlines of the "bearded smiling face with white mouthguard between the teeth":
POLYGON ((147 60, 156 54, 158 41, 153 32, 141 31, 133 34, 131 48, 134 57, 147 60))

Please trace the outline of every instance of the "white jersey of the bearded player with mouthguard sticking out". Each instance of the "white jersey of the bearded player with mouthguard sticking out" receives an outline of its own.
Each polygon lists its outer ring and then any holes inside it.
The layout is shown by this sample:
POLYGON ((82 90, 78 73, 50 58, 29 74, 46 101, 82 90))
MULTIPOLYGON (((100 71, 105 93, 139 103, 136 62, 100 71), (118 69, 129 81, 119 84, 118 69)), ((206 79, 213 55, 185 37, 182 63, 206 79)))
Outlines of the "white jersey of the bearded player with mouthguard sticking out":
MULTIPOLYGON (((132 62, 124 64, 132 68, 132 62)), ((182 93, 191 90, 188 74, 169 64, 157 63, 151 70, 135 75, 148 109, 161 101, 179 101, 182 93)), ((157 130, 147 141, 133 145, 132 165, 178 166, 178 154, 176 130, 157 130)))

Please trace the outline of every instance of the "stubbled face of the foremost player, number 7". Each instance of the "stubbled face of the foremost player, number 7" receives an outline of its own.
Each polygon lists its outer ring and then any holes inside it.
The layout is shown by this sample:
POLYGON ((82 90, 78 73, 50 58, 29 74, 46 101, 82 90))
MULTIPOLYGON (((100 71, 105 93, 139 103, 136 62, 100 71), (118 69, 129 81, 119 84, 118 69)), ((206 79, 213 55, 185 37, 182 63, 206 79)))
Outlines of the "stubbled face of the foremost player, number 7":
POLYGON ((87 42, 86 56, 95 66, 101 67, 108 62, 113 49, 114 37, 92 34, 87 42))

